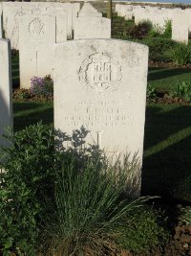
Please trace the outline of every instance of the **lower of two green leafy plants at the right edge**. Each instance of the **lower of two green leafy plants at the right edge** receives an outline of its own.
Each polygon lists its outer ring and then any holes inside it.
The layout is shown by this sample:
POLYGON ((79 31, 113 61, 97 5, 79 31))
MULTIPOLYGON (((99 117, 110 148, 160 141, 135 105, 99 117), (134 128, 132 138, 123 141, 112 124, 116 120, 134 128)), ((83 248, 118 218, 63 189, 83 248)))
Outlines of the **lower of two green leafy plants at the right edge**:
POLYGON ((178 81, 170 92, 173 97, 179 97, 187 102, 191 101, 191 81, 178 81))

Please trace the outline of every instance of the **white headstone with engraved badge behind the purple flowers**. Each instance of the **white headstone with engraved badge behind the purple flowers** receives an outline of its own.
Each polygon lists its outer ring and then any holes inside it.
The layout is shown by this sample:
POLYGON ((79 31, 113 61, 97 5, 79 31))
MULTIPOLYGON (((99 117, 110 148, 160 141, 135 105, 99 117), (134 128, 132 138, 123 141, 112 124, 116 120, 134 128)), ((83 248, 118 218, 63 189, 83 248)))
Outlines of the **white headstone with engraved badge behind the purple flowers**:
POLYGON ((20 19, 19 32, 20 87, 30 88, 31 78, 53 77, 55 17, 29 15, 20 19))

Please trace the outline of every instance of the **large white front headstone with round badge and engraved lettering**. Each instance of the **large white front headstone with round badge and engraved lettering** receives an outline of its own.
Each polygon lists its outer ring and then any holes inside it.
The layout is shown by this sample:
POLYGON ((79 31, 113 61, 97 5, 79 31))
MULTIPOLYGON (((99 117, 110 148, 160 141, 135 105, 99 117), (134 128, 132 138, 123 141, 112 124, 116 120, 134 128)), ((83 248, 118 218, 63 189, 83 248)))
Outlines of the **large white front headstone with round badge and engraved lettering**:
MULTIPOLYGON (((54 127, 90 130, 108 155, 143 151, 148 47, 117 39, 55 45, 54 127)), ((140 170, 138 173, 140 176, 140 170)))

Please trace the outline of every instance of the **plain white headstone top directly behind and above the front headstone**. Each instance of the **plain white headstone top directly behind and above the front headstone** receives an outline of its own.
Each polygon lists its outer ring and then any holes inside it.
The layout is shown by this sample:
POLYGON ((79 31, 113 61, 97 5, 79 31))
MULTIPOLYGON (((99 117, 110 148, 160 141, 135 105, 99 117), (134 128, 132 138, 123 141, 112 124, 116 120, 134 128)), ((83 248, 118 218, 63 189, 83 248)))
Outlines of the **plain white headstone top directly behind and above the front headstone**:
POLYGON ((102 17, 77 17, 74 39, 111 38, 111 19, 102 17))

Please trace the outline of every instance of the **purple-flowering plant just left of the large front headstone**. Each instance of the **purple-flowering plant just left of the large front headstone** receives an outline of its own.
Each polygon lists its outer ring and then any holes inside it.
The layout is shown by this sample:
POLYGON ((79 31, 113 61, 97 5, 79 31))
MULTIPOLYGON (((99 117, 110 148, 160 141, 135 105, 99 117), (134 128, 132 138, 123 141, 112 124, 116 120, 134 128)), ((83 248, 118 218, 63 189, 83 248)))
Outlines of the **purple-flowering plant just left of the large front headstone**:
POLYGON ((33 95, 52 97, 53 96, 53 80, 51 75, 44 78, 32 77, 31 92, 33 95))

